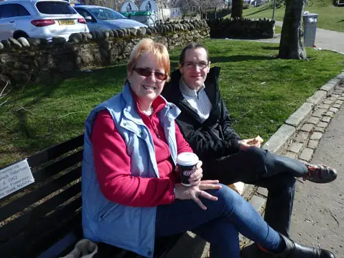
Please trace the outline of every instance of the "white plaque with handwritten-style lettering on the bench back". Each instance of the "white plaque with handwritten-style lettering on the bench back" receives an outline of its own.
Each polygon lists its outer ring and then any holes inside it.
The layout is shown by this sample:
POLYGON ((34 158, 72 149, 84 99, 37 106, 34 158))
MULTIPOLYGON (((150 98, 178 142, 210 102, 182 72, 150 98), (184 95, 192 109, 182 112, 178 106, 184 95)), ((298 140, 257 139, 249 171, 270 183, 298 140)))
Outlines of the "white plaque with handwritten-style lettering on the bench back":
POLYGON ((21 160, 0 170, 0 199, 32 184, 32 175, 28 160, 21 160))

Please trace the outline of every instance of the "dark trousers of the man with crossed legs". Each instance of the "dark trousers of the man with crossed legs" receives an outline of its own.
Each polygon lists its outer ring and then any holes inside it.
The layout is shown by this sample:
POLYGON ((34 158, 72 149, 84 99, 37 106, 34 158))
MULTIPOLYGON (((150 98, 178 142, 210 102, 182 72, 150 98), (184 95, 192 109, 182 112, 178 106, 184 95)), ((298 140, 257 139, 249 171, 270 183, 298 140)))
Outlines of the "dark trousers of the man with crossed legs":
POLYGON ((294 202, 294 177, 301 178, 307 173, 302 162, 256 147, 215 161, 204 161, 204 179, 217 179, 222 184, 241 181, 268 189, 264 219, 286 236, 294 202))

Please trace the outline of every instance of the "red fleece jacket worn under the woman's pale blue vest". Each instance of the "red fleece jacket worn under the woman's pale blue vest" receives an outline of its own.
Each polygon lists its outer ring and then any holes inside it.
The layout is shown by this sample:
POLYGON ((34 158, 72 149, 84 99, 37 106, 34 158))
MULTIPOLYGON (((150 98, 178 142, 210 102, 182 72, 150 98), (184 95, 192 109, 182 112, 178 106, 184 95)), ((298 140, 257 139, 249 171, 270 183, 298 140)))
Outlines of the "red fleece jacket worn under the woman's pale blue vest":
MULTIPOLYGON (((160 178, 131 175, 131 159, 127 154, 125 141, 118 133, 109 112, 99 112, 94 122, 91 141, 100 191, 108 200, 140 207, 171 204, 174 201, 174 184, 180 182, 180 178, 174 171, 171 152, 157 114, 165 105, 161 97, 156 98, 153 102, 154 112, 150 117, 142 113, 138 106, 136 107, 153 137, 160 178)), ((192 152, 177 124, 175 124, 175 137, 178 153, 192 152)))

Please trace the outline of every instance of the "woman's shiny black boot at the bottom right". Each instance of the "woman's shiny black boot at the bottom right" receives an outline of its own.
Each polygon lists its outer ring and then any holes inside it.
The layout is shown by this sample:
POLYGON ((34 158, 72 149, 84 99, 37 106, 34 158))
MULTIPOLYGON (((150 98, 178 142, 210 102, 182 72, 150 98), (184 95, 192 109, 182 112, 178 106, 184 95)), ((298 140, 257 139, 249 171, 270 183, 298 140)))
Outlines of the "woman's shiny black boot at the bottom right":
MULTIPOLYGON (((281 235, 281 234, 280 234, 281 235)), ((282 239, 286 242, 286 249, 275 254, 278 258, 336 258, 332 252, 320 248, 303 246, 297 244, 292 239, 281 235, 282 239)))

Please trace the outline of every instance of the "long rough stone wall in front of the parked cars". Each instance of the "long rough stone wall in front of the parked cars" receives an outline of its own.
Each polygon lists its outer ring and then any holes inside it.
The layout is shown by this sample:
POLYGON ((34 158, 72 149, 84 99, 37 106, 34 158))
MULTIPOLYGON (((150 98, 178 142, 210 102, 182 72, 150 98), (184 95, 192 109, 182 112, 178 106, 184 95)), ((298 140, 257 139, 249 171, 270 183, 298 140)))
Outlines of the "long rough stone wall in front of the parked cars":
POLYGON ((0 80, 10 80, 15 86, 55 75, 68 76, 83 69, 126 61, 142 38, 151 38, 172 50, 201 41, 209 32, 203 20, 164 23, 138 30, 77 33, 69 36, 67 42, 63 38, 54 38, 51 43, 44 39, 8 39, 0 43, 0 80))

